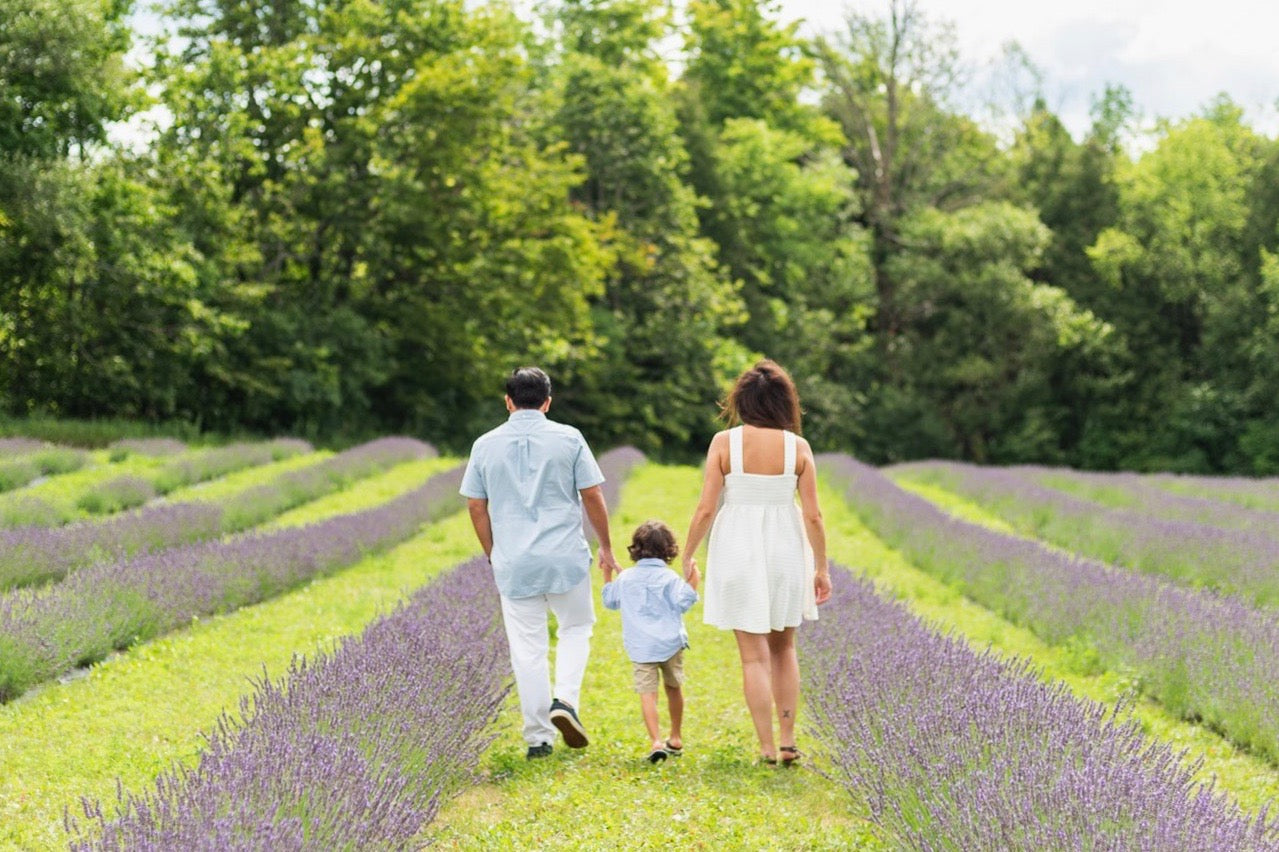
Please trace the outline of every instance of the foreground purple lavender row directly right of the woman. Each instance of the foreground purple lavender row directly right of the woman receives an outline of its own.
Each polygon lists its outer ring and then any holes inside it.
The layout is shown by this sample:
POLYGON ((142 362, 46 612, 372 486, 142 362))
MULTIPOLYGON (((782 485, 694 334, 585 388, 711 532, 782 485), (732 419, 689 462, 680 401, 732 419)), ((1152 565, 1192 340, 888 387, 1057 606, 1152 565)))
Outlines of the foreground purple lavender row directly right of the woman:
POLYGON ((836 780, 912 849, 1279 849, 1140 724, 927 629, 843 569, 801 631, 836 780))

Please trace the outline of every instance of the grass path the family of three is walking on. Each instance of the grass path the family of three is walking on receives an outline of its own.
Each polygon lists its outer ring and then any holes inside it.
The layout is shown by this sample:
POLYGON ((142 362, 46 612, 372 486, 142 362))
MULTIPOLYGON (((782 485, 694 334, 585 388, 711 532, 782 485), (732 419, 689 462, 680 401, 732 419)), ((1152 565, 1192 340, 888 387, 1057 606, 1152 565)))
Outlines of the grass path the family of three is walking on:
MULTIPOLYGON (((683 536, 700 490, 697 468, 637 468, 611 517, 614 550, 624 556, 631 532, 648 518, 683 536)), ((526 761, 512 696, 481 764, 483 783, 445 806, 430 839, 446 849, 881 848, 857 803, 833 782, 811 770, 756 765, 735 642, 702 624, 701 604, 684 617, 686 753, 646 762, 620 615, 599 600, 596 615, 581 707, 591 746, 574 752, 559 743, 549 759, 526 761)), ((665 723, 665 700, 660 714, 665 723)))

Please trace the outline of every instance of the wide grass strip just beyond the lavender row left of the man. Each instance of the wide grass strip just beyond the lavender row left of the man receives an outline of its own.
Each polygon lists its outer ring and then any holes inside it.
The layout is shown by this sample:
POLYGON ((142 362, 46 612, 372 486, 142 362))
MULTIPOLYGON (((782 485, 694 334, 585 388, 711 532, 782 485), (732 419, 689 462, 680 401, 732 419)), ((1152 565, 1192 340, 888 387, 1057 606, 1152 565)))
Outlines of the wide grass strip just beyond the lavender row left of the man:
MULTIPOLYGON (((352 512, 366 499, 331 508, 352 512)), ((251 678, 263 669, 279 677, 294 654, 358 633, 476 550, 469 519, 457 514, 338 574, 198 620, 87 677, 0 706, 0 848, 64 848, 64 807, 78 807, 81 796, 114 802, 116 778, 145 791, 174 761, 193 764, 201 732, 223 710, 238 716, 251 678)))

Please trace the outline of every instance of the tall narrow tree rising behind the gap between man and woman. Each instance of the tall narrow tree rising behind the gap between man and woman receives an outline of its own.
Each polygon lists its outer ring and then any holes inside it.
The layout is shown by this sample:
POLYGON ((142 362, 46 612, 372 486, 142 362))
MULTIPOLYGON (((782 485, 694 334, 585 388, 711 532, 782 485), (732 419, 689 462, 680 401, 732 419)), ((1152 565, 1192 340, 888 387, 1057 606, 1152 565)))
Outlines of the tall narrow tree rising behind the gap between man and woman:
POLYGON ((688 156, 652 51, 648 22, 660 19, 647 0, 565 3, 558 17, 554 133, 582 157, 573 198, 616 257, 593 311, 601 359, 573 365, 560 404, 592 440, 682 454, 710 438, 715 399, 746 356, 728 338, 741 302, 683 180, 688 156))

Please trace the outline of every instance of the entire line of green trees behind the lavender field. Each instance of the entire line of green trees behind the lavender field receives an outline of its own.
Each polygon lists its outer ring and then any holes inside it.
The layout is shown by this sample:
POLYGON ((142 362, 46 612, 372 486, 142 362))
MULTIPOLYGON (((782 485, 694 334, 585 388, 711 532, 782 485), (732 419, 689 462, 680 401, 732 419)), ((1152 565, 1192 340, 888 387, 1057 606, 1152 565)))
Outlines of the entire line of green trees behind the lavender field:
POLYGON ((912 0, 129 15, 0 0, 10 414, 466 449, 538 363, 687 458, 767 356, 870 462, 1279 472, 1279 141, 1225 96, 1140 152, 1120 87, 996 133, 912 0))

